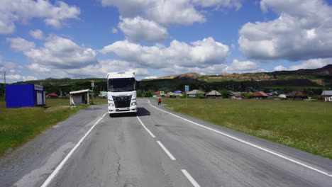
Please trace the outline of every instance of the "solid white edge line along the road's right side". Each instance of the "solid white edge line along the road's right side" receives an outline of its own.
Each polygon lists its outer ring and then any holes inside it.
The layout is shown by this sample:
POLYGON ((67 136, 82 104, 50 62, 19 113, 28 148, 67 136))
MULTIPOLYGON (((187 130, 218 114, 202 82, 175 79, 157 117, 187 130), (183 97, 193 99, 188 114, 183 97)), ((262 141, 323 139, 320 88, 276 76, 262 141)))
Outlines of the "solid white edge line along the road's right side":
MULTIPOLYGON (((153 105, 150 104, 150 106, 153 106, 153 105)), ((157 108, 157 107, 155 107, 155 106, 153 106, 153 107, 154 107, 154 108, 157 108)), ((283 159, 287 159, 287 160, 290 161, 290 162, 294 162, 294 163, 299 164, 299 165, 301 165, 301 166, 304 166, 304 167, 306 167, 306 168, 308 168, 308 169, 311 169, 311 170, 317 171, 317 172, 319 172, 319 173, 321 173, 321 174, 324 174, 324 175, 326 175, 326 176, 330 176, 330 177, 332 177, 332 174, 328 174, 328 172, 326 172, 326 171, 321 171, 321 170, 319 170, 319 169, 316 169, 316 168, 311 167, 311 166, 309 166, 309 165, 306 165, 306 164, 304 164, 304 163, 298 162, 298 161, 296 161, 296 160, 294 160, 294 159, 291 159, 291 158, 289 158, 289 157, 285 157, 285 156, 282 155, 282 154, 278 154, 277 152, 272 152, 272 151, 270 151, 269 149, 265 149, 264 147, 260 147, 260 146, 258 146, 258 145, 254 145, 254 144, 252 144, 252 143, 250 143, 250 142, 246 142, 245 140, 241 140, 241 139, 239 139, 239 138, 237 138, 237 137, 233 137, 233 136, 228 135, 228 134, 226 134, 226 133, 224 133, 224 132, 220 132, 220 131, 218 131, 218 130, 214 130, 213 128, 208 128, 208 127, 206 127, 206 126, 204 126, 204 125, 200 125, 199 123, 195 123, 195 122, 193 122, 193 121, 191 121, 191 120, 187 120, 186 118, 182 118, 182 117, 180 117, 179 115, 175 115, 175 114, 173 114, 173 113, 169 113, 169 112, 164 111, 164 110, 162 110, 162 109, 160 109, 160 108, 157 108, 157 109, 160 110, 160 111, 163 111, 163 112, 165 112, 165 113, 168 113, 168 114, 170 114, 170 115, 174 115, 175 117, 180 118, 180 119, 182 119, 182 120, 186 120, 186 121, 188 121, 189 123, 193 123, 194 125, 198 125, 198 126, 201 127, 201 128, 206 128, 206 129, 208 129, 208 130, 211 130, 211 131, 217 132, 218 134, 224 135, 224 136, 226 136, 226 137, 231 137, 232 139, 234 139, 234 140, 238 140, 239 142, 243 142, 243 143, 245 143, 246 145, 251 145, 251 146, 256 147, 256 148, 258 148, 258 149, 260 149, 260 150, 262 150, 262 151, 268 152, 268 153, 270 153, 270 154, 274 154, 274 155, 277 156, 277 157, 281 157, 281 158, 283 158, 283 159)))

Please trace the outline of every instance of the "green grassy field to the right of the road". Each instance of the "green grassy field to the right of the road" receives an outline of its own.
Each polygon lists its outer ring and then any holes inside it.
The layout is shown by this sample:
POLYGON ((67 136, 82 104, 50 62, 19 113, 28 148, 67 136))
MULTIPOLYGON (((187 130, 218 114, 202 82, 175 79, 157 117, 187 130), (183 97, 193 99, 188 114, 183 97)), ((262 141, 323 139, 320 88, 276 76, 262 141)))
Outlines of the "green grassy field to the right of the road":
POLYGON ((332 159, 332 103, 229 99, 163 100, 172 111, 332 159))

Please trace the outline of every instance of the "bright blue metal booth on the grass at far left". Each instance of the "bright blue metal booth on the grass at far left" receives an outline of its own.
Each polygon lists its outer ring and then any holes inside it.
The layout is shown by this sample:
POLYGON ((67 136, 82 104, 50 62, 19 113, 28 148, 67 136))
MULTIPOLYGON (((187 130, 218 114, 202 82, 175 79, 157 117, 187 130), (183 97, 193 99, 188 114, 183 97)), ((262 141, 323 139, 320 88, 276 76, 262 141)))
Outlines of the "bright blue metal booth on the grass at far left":
POLYGON ((45 105, 45 86, 37 84, 6 85, 7 108, 45 105))

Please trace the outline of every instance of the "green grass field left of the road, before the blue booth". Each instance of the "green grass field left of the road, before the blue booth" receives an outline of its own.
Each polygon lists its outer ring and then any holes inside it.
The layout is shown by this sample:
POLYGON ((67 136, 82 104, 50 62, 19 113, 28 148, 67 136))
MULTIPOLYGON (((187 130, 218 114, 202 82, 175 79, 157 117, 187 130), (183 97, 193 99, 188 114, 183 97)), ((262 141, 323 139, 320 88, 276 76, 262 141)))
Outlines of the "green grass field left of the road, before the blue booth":
MULTIPOLYGON (((47 99, 46 103, 46 107, 6 108, 6 103, 0 102, 0 156, 87 108, 86 105, 70 106, 69 99, 47 99)), ((94 103, 107 103, 107 100, 95 99, 94 103)))

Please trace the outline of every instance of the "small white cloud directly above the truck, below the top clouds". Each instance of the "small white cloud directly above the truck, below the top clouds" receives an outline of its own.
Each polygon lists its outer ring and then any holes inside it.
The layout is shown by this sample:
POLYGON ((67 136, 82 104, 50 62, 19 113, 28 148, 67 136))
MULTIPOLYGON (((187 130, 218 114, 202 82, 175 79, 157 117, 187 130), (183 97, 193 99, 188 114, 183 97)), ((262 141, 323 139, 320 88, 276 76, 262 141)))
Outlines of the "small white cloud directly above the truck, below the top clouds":
POLYGON ((167 39, 167 29, 154 21, 141 17, 121 18, 118 28, 126 35, 126 40, 131 42, 160 42, 167 39))

